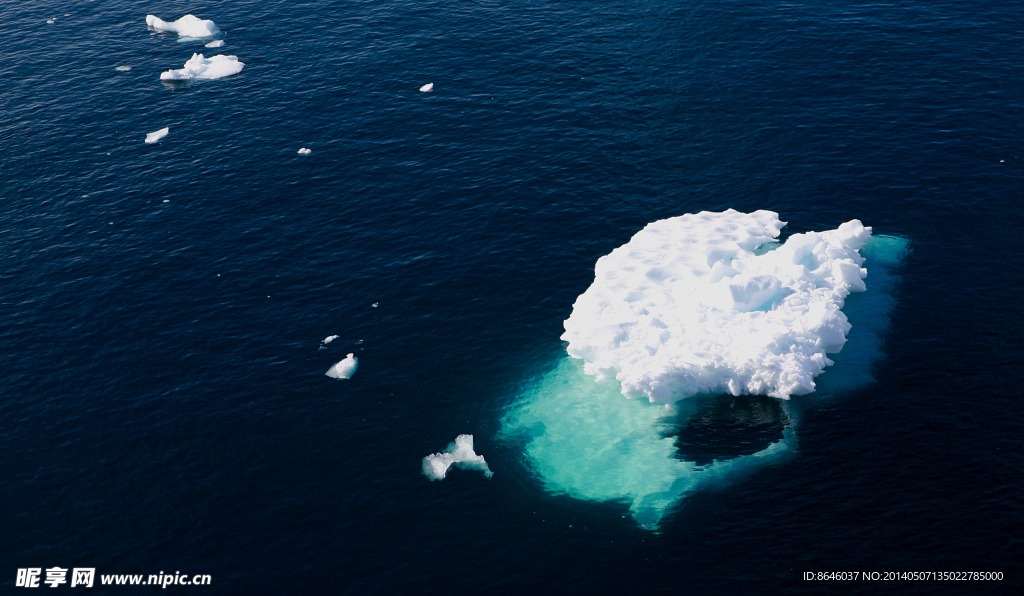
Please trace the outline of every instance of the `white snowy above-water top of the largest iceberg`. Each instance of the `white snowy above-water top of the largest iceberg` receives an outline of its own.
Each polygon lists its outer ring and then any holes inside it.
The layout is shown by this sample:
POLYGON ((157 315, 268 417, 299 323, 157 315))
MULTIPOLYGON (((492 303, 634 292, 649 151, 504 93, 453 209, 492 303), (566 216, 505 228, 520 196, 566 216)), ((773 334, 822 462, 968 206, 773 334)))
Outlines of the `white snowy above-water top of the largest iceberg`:
POLYGON ((565 321, 569 355, 652 402, 814 391, 850 331, 840 309, 865 289, 858 249, 871 228, 854 219, 766 251, 783 225, 732 209, 648 224, 597 261, 565 321))

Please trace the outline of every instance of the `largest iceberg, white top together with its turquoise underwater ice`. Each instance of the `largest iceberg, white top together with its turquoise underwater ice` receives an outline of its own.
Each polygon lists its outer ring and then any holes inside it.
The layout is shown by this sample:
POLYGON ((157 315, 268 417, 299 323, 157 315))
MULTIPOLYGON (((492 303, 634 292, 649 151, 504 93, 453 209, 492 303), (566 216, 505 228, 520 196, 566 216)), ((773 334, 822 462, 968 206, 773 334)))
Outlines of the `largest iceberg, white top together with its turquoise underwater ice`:
POLYGON ((623 502, 657 527, 685 495, 792 454, 791 395, 871 381, 906 241, 854 220, 779 246, 783 225, 768 211, 684 215, 598 260, 565 322, 570 357, 502 420, 548 492, 623 502), (695 413, 687 397, 720 393, 780 398, 780 436, 705 465, 680 459, 672 433, 695 413))

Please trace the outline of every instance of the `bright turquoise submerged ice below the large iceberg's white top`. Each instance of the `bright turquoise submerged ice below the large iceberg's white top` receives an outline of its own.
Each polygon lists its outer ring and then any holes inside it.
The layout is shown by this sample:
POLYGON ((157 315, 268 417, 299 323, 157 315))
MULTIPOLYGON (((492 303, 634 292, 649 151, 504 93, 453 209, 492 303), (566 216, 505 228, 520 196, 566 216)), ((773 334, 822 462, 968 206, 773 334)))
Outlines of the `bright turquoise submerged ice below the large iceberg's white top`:
POLYGON ((548 492, 627 503, 633 518, 650 528, 686 494, 780 461, 796 448, 791 425, 753 455, 703 466, 680 460, 670 432, 686 406, 626 399, 617 383, 598 383, 580 360, 562 358, 506 415, 502 434, 525 442, 526 459, 548 492))

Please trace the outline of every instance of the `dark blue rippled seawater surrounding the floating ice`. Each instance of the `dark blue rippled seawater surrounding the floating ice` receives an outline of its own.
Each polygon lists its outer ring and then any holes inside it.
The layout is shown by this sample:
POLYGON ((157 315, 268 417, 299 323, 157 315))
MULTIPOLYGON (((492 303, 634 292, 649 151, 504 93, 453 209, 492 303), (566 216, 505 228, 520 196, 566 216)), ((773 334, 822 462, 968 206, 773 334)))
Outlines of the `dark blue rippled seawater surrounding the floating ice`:
MULTIPOLYGON (((211 576, 167 589, 189 594, 1019 587, 1022 32, 990 1, 0 5, 0 586, 60 566, 211 576), (246 68, 160 81, 194 51, 246 68), (876 382, 805 400, 796 457, 657 533, 547 494, 500 421, 563 357, 594 262, 727 208, 909 239, 876 382), (348 351, 357 374, 325 377, 348 351), (494 477, 428 481, 461 433, 494 477)), ((682 456, 778 432, 702 408, 682 456)))

